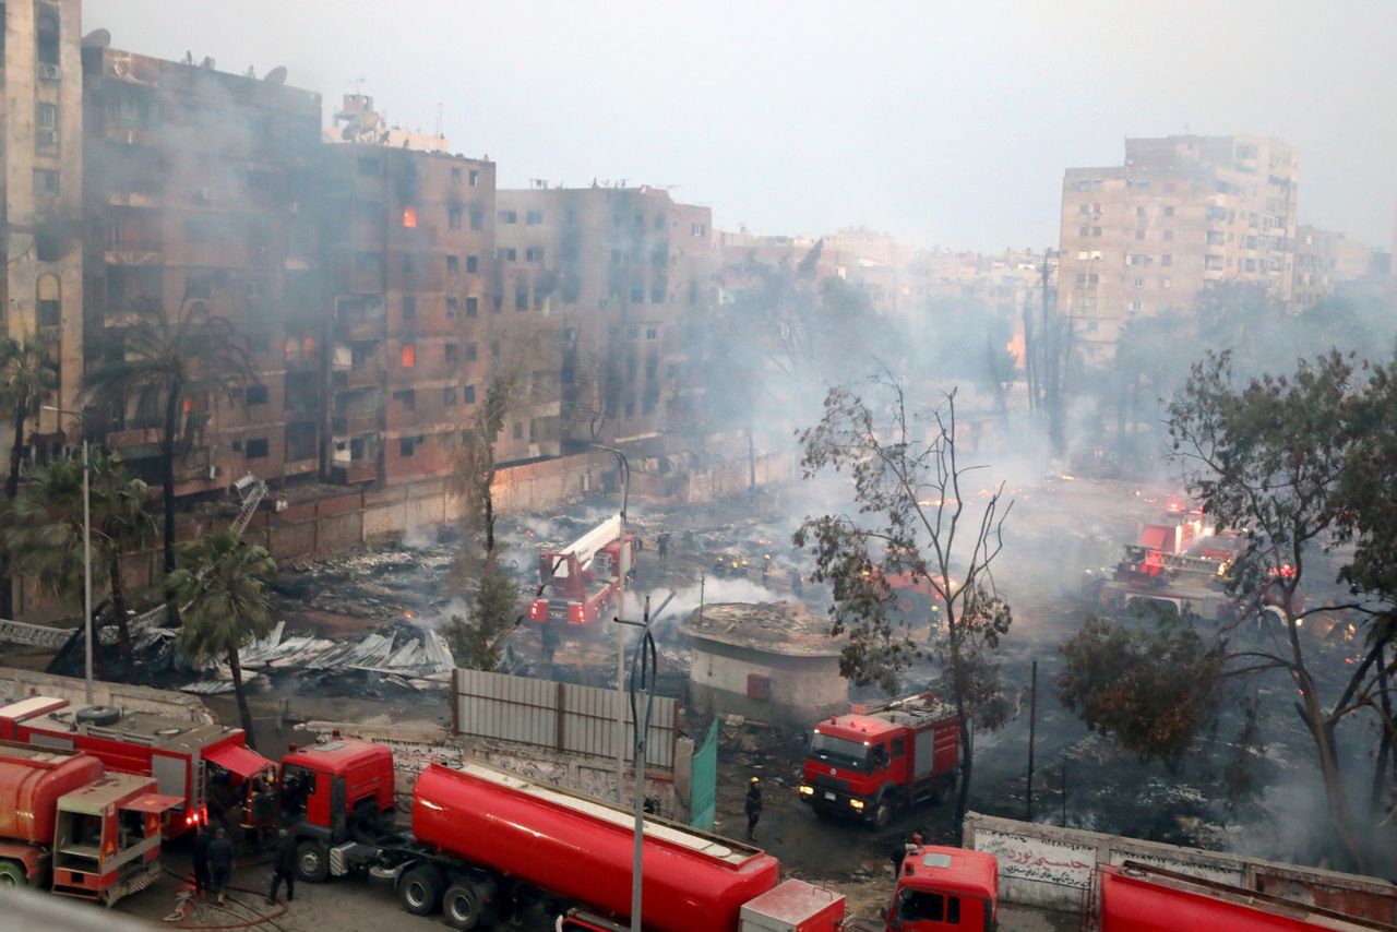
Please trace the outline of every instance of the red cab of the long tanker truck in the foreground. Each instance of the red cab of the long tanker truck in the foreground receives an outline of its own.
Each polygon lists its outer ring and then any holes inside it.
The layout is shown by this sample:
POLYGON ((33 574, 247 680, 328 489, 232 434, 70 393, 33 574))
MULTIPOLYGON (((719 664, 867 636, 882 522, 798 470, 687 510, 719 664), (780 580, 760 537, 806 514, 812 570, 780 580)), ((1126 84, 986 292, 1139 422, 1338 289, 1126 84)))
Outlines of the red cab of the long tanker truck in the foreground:
POLYGON ((338 736, 295 749, 282 757, 277 798, 296 837, 298 876, 319 883, 335 847, 393 810, 393 752, 338 736))

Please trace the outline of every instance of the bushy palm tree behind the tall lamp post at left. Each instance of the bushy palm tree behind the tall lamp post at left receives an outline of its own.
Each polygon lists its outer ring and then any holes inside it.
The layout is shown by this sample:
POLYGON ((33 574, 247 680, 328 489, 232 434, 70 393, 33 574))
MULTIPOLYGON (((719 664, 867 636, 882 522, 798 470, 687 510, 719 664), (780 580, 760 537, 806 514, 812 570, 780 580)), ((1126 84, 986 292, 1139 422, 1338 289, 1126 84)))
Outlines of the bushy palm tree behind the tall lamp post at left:
MULTIPOLYGON (((92 585, 112 587, 112 615, 130 680, 136 671, 122 556, 155 539, 155 520, 144 507, 145 483, 127 474, 120 457, 96 454, 89 483, 92 585)), ((71 598, 84 585, 82 531, 82 461, 54 460, 29 469, 11 503, 0 544, 17 555, 15 566, 32 573, 46 592, 71 598)))

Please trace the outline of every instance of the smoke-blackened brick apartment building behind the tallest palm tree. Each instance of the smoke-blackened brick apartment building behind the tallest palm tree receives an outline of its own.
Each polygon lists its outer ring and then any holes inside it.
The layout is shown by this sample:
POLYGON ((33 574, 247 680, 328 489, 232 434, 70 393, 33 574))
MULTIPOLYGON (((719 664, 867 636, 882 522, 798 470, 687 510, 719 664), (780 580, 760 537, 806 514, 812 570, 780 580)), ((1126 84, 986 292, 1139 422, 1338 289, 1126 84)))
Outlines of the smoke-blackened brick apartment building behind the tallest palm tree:
MULTIPOLYGON (((172 323, 224 317, 247 344, 253 379, 232 398, 186 398, 176 492, 226 489, 246 471, 316 478, 320 96, 285 87, 281 68, 258 80, 101 38, 82 49, 82 70, 87 365, 123 352, 138 305, 158 305, 172 323)), ((159 482, 155 401, 99 404, 98 414, 108 444, 159 482)))

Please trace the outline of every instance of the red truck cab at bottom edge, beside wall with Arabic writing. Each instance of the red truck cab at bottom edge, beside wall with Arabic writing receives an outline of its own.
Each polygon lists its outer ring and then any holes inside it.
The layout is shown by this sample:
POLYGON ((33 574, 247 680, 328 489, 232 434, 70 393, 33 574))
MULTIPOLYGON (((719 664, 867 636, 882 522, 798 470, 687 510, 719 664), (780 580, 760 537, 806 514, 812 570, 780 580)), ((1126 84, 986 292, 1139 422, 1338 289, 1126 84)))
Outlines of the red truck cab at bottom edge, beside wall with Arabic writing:
POLYGON ((999 919, 995 855, 918 845, 902 858, 887 932, 974 929, 992 932, 999 919))

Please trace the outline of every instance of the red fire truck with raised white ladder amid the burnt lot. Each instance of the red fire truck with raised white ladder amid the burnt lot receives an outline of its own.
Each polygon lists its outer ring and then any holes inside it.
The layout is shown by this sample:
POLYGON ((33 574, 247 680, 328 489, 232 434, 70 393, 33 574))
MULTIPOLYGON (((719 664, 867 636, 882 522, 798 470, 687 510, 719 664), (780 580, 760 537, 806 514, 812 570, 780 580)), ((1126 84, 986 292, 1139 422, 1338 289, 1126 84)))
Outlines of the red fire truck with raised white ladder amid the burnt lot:
MULTIPOLYGON (((626 534, 627 577, 640 552, 636 535, 626 534)), ((539 625, 592 625, 606 615, 620 591, 620 516, 615 514, 562 551, 538 558, 539 597, 529 620, 539 625)))

